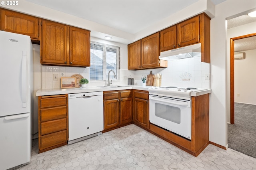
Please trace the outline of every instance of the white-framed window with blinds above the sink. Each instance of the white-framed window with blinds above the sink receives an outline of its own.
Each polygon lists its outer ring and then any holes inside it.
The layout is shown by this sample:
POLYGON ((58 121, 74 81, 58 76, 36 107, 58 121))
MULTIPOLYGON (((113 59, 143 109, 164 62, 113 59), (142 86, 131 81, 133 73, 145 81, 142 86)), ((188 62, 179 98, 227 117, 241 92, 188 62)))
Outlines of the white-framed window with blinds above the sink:
POLYGON ((110 72, 110 80, 120 80, 120 47, 98 42, 91 42, 91 66, 90 80, 107 80, 110 72))

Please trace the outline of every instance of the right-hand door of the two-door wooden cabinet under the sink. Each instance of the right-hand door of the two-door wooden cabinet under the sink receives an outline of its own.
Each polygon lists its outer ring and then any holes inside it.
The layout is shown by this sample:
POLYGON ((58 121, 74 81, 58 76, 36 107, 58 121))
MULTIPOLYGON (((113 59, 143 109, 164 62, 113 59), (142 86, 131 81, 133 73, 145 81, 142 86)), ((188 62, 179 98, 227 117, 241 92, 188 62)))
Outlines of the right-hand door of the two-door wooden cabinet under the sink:
POLYGON ((120 99, 120 125, 132 122, 132 97, 120 99))

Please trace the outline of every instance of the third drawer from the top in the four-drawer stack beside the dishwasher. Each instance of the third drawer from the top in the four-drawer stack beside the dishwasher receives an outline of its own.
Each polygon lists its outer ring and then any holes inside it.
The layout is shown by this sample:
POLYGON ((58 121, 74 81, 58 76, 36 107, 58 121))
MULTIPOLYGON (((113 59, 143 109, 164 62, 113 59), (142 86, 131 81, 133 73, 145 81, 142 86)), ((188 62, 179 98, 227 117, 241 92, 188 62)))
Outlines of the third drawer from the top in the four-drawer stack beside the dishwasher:
POLYGON ((53 132, 58 132, 60 130, 67 129, 67 119, 58 119, 55 121, 48 121, 40 123, 40 134, 49 134, 53 132))

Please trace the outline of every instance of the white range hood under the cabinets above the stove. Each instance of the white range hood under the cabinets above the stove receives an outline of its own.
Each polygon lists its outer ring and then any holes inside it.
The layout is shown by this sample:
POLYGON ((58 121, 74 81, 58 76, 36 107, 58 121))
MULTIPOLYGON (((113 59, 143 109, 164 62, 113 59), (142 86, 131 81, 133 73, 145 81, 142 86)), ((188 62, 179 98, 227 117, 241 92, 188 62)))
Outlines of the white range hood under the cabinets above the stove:
POLYGON ((189 57, 201 56, 201 43, 180 47, 160 53, 159 59, 171 61, 176 59, 183 59, 189 57))

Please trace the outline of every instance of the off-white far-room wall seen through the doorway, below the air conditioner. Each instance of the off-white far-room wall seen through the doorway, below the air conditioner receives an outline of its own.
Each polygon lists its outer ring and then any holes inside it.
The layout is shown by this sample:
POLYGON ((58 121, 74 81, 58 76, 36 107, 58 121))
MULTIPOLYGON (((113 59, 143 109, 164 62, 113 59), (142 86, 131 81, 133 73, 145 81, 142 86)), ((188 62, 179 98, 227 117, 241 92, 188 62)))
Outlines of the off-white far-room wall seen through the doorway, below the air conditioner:
POLYGON ((241 52, 246 57, 234 61, 234 101, 256 105, 256 49, 241 52))

